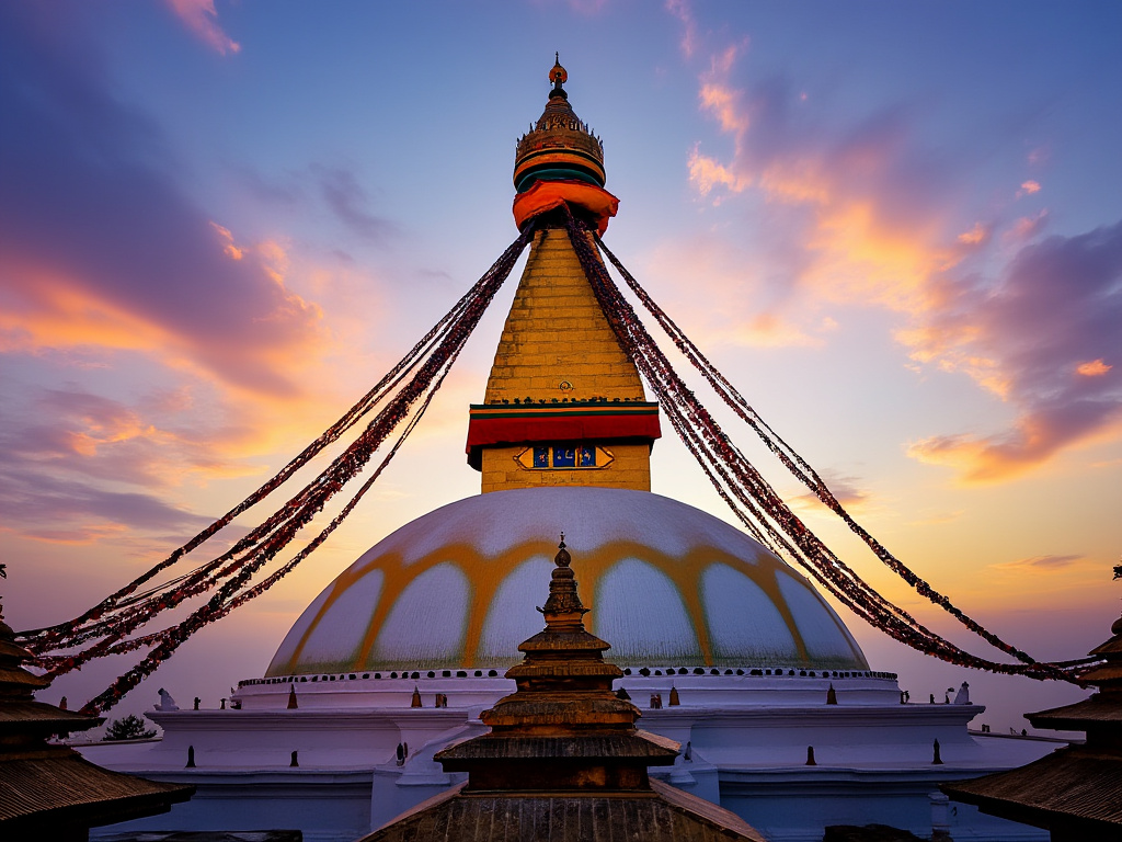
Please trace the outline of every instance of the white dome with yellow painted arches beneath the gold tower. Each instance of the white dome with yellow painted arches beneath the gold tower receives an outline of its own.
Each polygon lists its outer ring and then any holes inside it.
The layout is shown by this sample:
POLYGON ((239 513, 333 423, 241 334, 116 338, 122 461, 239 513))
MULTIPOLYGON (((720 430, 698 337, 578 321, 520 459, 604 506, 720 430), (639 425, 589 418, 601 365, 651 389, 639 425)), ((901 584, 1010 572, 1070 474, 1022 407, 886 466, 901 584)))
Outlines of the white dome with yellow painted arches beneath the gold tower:
POLYGON ((649 492, 554 487, 405 524, 315 598, 266 675, 507 667, 541 631, 562 530, 615 663, 868 669, 807 579, 734 527, 649 492))

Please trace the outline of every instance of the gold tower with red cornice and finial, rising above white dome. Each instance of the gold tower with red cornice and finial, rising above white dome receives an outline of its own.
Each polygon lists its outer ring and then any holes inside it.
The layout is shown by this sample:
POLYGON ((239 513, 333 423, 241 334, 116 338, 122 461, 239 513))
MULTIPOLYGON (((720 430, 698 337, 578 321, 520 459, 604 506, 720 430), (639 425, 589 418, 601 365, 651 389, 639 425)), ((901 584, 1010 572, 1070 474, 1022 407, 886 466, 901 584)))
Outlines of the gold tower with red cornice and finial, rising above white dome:
POLYGON ((554 64, 545 110, 515 155, 515 221, 536 218, 537 231, 484 403, 471 406, 468 461, 482 473, 484 492, 651 489, 659 406, 646 401, 564 227, 571 212, 603 234, 617 205, 604 190, 604 148, 569 104, 567 79, 554 64))

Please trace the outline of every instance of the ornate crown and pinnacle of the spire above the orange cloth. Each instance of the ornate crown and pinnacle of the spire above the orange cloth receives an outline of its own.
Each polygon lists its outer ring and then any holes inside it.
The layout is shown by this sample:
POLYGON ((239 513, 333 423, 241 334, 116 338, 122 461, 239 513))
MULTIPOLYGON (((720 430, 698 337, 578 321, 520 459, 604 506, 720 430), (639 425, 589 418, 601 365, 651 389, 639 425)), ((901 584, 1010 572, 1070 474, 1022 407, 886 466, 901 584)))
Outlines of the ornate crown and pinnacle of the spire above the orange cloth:
POLYGON ((514 186, 522 193, 537 181, 576 180, 604 186, 604 147, 573 112, 562 85, 569 73, 560 56, 550 68, 550 91, 545 111, 530 131, 518 139, 514 162, 514 186))

